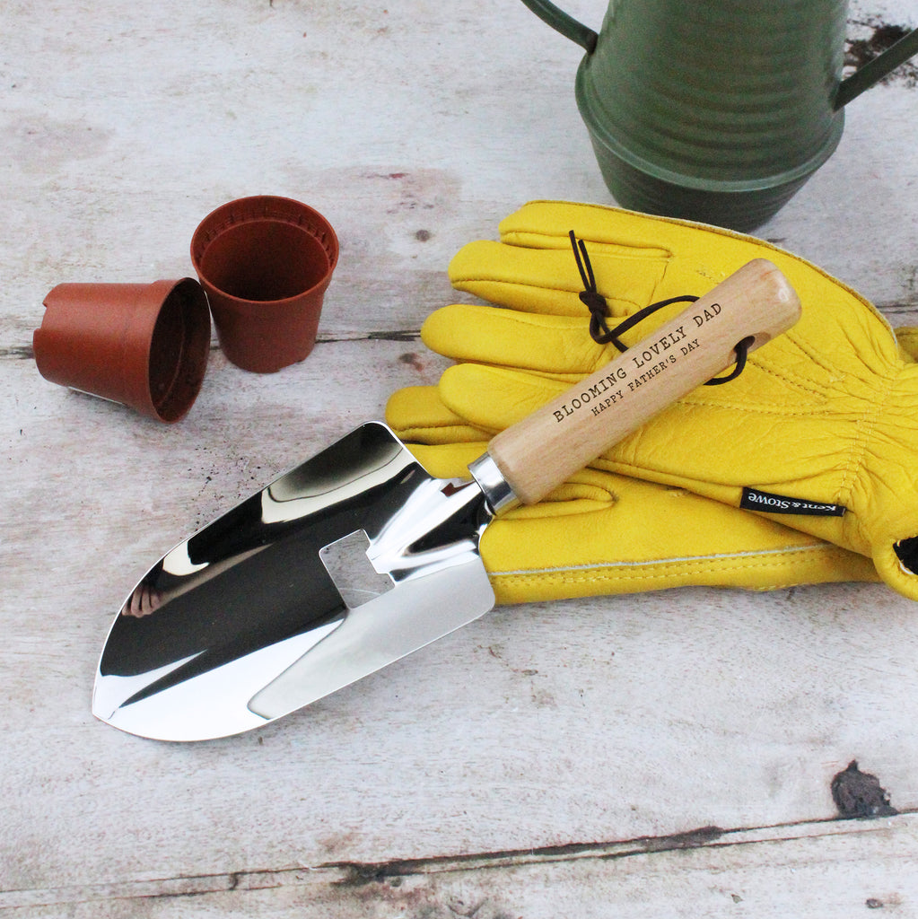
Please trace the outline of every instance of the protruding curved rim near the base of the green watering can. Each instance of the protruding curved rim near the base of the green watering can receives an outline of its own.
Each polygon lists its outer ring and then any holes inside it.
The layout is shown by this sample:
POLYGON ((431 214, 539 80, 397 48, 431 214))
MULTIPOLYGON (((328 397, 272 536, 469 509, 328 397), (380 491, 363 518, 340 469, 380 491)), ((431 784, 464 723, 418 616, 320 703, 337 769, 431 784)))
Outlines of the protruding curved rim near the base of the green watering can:
POLYGON ((832 133, 820 149, 819 153, 810 157, 809 160, 801 165, 788 169, 785 172, 776 173, 771 176, 760 176, 755 178, 743 179, 712 179, 703 176, 689 176, 685 173, 676 172, 667 169, 664 166, 652 163, 637 153, 629 150, 622 142, 600 124, 594 117, 593 108, 590 105, 590 96, 587 91, 587 66, 589 55, 584 57, 580 67, 577 70, 577 78, 574 84, 575 95, 577 99, 577 108, 580 109, 581 117, 586 123, 586 127, 593 135, 595 140, 601 142, 610 153, 618 156, 628 165, 649 176, 661 179, 664 182, 671 183, 674 186, 692 188, 697 191, 722 191, 722 192, 743 192, 743 191, 763 191, 767 188, 787 185, 798 179, 806 178, 812 175, 822 166, 826 160, 835 151, 838 143, 842 139, 844 130, 844 111, 839 111, 833 122, 832 133))

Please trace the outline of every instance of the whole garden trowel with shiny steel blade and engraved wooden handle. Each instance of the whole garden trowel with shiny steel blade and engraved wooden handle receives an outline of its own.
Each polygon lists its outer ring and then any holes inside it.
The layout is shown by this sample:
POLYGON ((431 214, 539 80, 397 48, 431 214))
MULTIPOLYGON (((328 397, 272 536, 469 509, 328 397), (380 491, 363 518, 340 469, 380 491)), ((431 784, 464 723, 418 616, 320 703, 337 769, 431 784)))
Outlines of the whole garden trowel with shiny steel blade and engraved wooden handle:
POLYGON ((115 619, 93 713, 161 740, 244 732, 493 607, 478 551, 666 405, 780 334, 799 300, 757 259, 436 479, 370 422, 167 552, 115 619))

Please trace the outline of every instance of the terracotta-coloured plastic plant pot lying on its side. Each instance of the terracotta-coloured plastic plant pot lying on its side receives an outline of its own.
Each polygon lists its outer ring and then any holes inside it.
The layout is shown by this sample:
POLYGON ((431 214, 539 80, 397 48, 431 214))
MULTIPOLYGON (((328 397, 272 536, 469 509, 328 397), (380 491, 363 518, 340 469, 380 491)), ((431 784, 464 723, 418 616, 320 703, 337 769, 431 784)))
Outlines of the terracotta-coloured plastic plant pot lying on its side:
POLYGON ((32 336, 46 380, 175 422, 198 397, 210 312, 194 278, 59 284, 32 336))

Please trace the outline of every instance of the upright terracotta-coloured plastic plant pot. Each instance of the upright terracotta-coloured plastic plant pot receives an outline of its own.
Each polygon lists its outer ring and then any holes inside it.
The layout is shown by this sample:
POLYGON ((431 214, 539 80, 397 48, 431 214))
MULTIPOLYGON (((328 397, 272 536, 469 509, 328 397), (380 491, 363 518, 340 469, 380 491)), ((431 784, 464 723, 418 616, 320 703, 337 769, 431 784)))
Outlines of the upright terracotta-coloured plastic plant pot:
POLYGON ((307 357, 337 260, 331 224, 300 201, 242 198, 205 217, 191 261, 226 357, 257 373, 307 357))

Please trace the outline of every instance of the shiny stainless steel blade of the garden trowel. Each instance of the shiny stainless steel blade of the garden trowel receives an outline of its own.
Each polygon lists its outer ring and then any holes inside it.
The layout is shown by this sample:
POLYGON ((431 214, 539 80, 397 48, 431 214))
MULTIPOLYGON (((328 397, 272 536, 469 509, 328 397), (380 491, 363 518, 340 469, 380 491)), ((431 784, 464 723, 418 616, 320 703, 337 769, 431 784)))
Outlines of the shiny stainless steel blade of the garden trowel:
POLYGON ((252 730, 493 607, 475 482, 362 425, 166 553, 131 592, 93 713, 158 740, 252 730))

